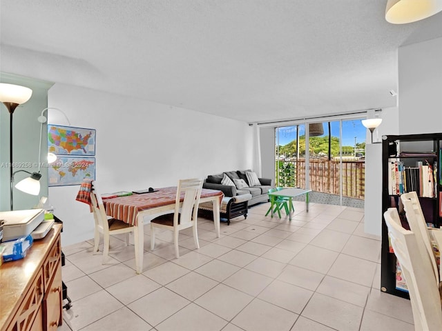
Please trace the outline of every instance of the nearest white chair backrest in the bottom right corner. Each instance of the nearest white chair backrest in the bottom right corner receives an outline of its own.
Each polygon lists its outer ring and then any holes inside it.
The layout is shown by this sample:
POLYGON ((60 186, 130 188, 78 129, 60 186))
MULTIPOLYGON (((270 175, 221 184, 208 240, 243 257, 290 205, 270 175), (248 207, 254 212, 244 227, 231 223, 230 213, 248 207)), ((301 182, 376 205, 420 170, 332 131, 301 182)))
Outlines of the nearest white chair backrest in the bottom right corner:
POLYGON ((412 231, 402 227, 396 208, 388 208, 384 218, 394 254, 401 264, 410 292, 414 327, 416 330, 442 330, 441 297, 434 282, 431 263, 421 258, 418 239, 412 231))

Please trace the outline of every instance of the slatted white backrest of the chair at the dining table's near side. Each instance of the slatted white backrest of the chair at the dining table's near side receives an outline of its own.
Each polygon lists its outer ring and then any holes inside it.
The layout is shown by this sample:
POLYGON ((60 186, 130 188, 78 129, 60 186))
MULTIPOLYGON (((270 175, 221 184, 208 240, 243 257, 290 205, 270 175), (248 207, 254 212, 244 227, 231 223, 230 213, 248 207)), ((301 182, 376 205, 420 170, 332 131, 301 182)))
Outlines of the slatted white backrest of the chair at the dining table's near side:
POLYGON ((191 223, 198 218, 198 205, 200 204, 202 179, 180 179, 177 186, 177 197, 175 200, 175 214, 173 226, 178 225, 178 215, 180 214, 180 224, 191 223), (184 192, 184 200, 180 207, 180 200, 184 192))

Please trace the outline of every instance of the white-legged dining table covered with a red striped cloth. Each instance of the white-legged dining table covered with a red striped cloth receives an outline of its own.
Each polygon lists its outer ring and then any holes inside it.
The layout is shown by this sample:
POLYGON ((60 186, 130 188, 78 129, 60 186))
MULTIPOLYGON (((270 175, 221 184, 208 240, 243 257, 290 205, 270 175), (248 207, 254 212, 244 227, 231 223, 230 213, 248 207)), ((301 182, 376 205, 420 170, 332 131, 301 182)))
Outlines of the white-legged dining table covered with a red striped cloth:
MULTIPOLYGON (((144 224, 162 214, 175 210, 177 187, 155 188, 143 194, 132 194, 125 197, 103 199, 106 214, 135 226, 135 271, 140 274, 143 270, 144 255, 144 224)), ((220 190, 203 188, 200 203, 213 203, 213 223, 216 236, 220 237, 220 204, 224 193, 220 190)), ((184 199, 182 194, 181 202, 184 199)))

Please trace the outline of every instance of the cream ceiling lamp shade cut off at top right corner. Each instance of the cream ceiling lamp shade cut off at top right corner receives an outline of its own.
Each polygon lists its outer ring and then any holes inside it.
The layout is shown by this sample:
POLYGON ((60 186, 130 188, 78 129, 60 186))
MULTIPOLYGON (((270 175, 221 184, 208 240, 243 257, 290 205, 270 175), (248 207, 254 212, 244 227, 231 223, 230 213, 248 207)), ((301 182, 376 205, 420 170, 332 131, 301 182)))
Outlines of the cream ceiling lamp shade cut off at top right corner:
POLYGON ((388 0, 385 20, 404 24, 426 19, 442 10, 440 0, 388 0))

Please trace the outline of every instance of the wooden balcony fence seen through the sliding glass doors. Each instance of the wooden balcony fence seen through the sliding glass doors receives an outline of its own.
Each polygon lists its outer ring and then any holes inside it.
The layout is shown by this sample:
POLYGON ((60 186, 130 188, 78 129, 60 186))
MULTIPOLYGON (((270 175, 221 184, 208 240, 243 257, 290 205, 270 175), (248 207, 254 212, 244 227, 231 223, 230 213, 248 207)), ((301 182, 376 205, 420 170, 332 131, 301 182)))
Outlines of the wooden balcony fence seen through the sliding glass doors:
MULTIPOLYGON (((294 176, 291 181, 287 178, 284 182, 294 183, 294 186, 305 188, 305 159, 298 161, 279 161, 291 163, 294 167, 294 176)), ((329 194, 340 194, 340 162, 327 159, 310 159, 310 188, 311 190, 329 194)), ((277 162, 278 165, 278 162, 277 162)), ((365 161, 343 161, 343 197, 364 199, 365 197, 365 161)), ((287 176, 280 173, 281 176, 287 176)))

